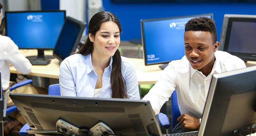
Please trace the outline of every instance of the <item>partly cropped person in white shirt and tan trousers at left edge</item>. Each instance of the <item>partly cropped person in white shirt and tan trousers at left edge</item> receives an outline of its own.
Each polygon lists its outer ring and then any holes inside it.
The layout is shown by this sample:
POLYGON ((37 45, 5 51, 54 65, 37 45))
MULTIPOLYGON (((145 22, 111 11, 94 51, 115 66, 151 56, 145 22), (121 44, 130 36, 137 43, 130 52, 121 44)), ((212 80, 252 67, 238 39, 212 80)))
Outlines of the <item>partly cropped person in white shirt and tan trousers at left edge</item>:
MULTIPOLYGON (((0 10, 2 9, 2 4, 0 3, 0 10)), ((2 10, 1 10, 2 11, 2 10)), ((2 12, 0 12, 0 25, 2 22, 2 12)), ((5 96, 5 91, 11 87, 15 82, 10 81, 10 65, 14 66, 18 72, 22 74, 28 74, 31 72, 31 64, 29 60, 19 52, 18 46, 7 36, 0 35, 0 71, 1 71, 1 81, 2 89, 5 96)), ((20 94, 47 94, 47 89, 40 87, 32 87, 25 85, 19 87, 12 91, 12 93, 20 94)), ((6 99, 6 98, 4 98, 6 99)), ((12 106, 14 103, 8 96, 7 106, 12 106)), ((4 135, 19 135, 18 131, 21 128, 21 124, 26 124, 26 121, 22 115, 15 111, 12 113, 12 117, 16 118, 18 121, 10 121, 3 125, 4 135)))

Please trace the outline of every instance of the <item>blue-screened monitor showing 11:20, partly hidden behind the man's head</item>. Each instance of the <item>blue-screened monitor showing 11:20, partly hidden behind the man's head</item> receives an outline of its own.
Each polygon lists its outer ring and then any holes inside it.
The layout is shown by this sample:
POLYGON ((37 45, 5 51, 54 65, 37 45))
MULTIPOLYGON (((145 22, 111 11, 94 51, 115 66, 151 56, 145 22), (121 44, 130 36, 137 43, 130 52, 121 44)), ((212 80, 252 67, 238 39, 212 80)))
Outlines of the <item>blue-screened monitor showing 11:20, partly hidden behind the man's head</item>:
POLYGON ((169 18, 142 19, 141 34, 145 66, 165 64, 180 60, 185 55, 185 24, 195 17, 209 17, 213 14, 178 16, 169 18))

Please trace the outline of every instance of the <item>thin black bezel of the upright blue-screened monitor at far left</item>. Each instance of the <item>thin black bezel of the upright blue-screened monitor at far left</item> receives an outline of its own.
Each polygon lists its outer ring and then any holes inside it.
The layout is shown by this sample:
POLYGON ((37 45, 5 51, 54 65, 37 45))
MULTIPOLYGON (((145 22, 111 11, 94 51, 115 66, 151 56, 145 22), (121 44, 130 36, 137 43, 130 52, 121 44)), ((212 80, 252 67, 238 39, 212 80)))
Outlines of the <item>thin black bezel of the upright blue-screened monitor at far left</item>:
MULTIPOLYGON (((39 12, 63 12, 64 13, 64 20, 63 21, 65 21, 66 20, 66 10, 41 10, 41 11, 39 11, 39 10, 32 10, 32 11, 6 11, 5 13, 4 13, 4 17, 5 17, 5 35, 6 36, 8 36, 8 33, 7 33, 7 20, 6 20, 6 14, 9 14, 9 13, 29 13, 29 12, 34 12, 34 13, 39 13, 39 12)), ((53 50, 54 48, 20 48, 19 47, 19 49, 37 49, 38 50, 38 52, 40 52, 40 54, 42 54, 42 52, 44 51, 44 50, 53 50)), ((38 53, 39 54, 39 53, 38 53)))

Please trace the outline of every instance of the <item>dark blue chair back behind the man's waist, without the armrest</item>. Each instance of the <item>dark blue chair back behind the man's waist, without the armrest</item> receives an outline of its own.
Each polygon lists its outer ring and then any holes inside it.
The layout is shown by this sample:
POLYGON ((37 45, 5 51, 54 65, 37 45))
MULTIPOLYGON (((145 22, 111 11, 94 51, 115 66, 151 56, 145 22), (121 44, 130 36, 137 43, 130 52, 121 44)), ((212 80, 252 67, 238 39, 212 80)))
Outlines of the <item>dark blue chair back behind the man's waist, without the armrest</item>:
POLYGON ((176 90, 174 90, 171 97, 172 97, 172 130, 173 130, 177 119, 181 116, 181 112, 178 106, 176 90))

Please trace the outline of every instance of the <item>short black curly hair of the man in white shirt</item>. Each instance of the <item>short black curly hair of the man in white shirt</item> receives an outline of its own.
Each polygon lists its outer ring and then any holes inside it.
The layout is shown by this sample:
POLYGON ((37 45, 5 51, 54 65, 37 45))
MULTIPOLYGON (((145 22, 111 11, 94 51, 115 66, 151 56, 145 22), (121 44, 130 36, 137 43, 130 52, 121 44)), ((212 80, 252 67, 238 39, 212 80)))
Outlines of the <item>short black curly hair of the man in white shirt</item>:
POLYGON ((210 32, 213 40, 213 44, 217 41, 217 31, 215 27, 215 22, 208 17, 199 17, 190 19, 185 24, 185 32, 186 31, 204 31, 210 32))

